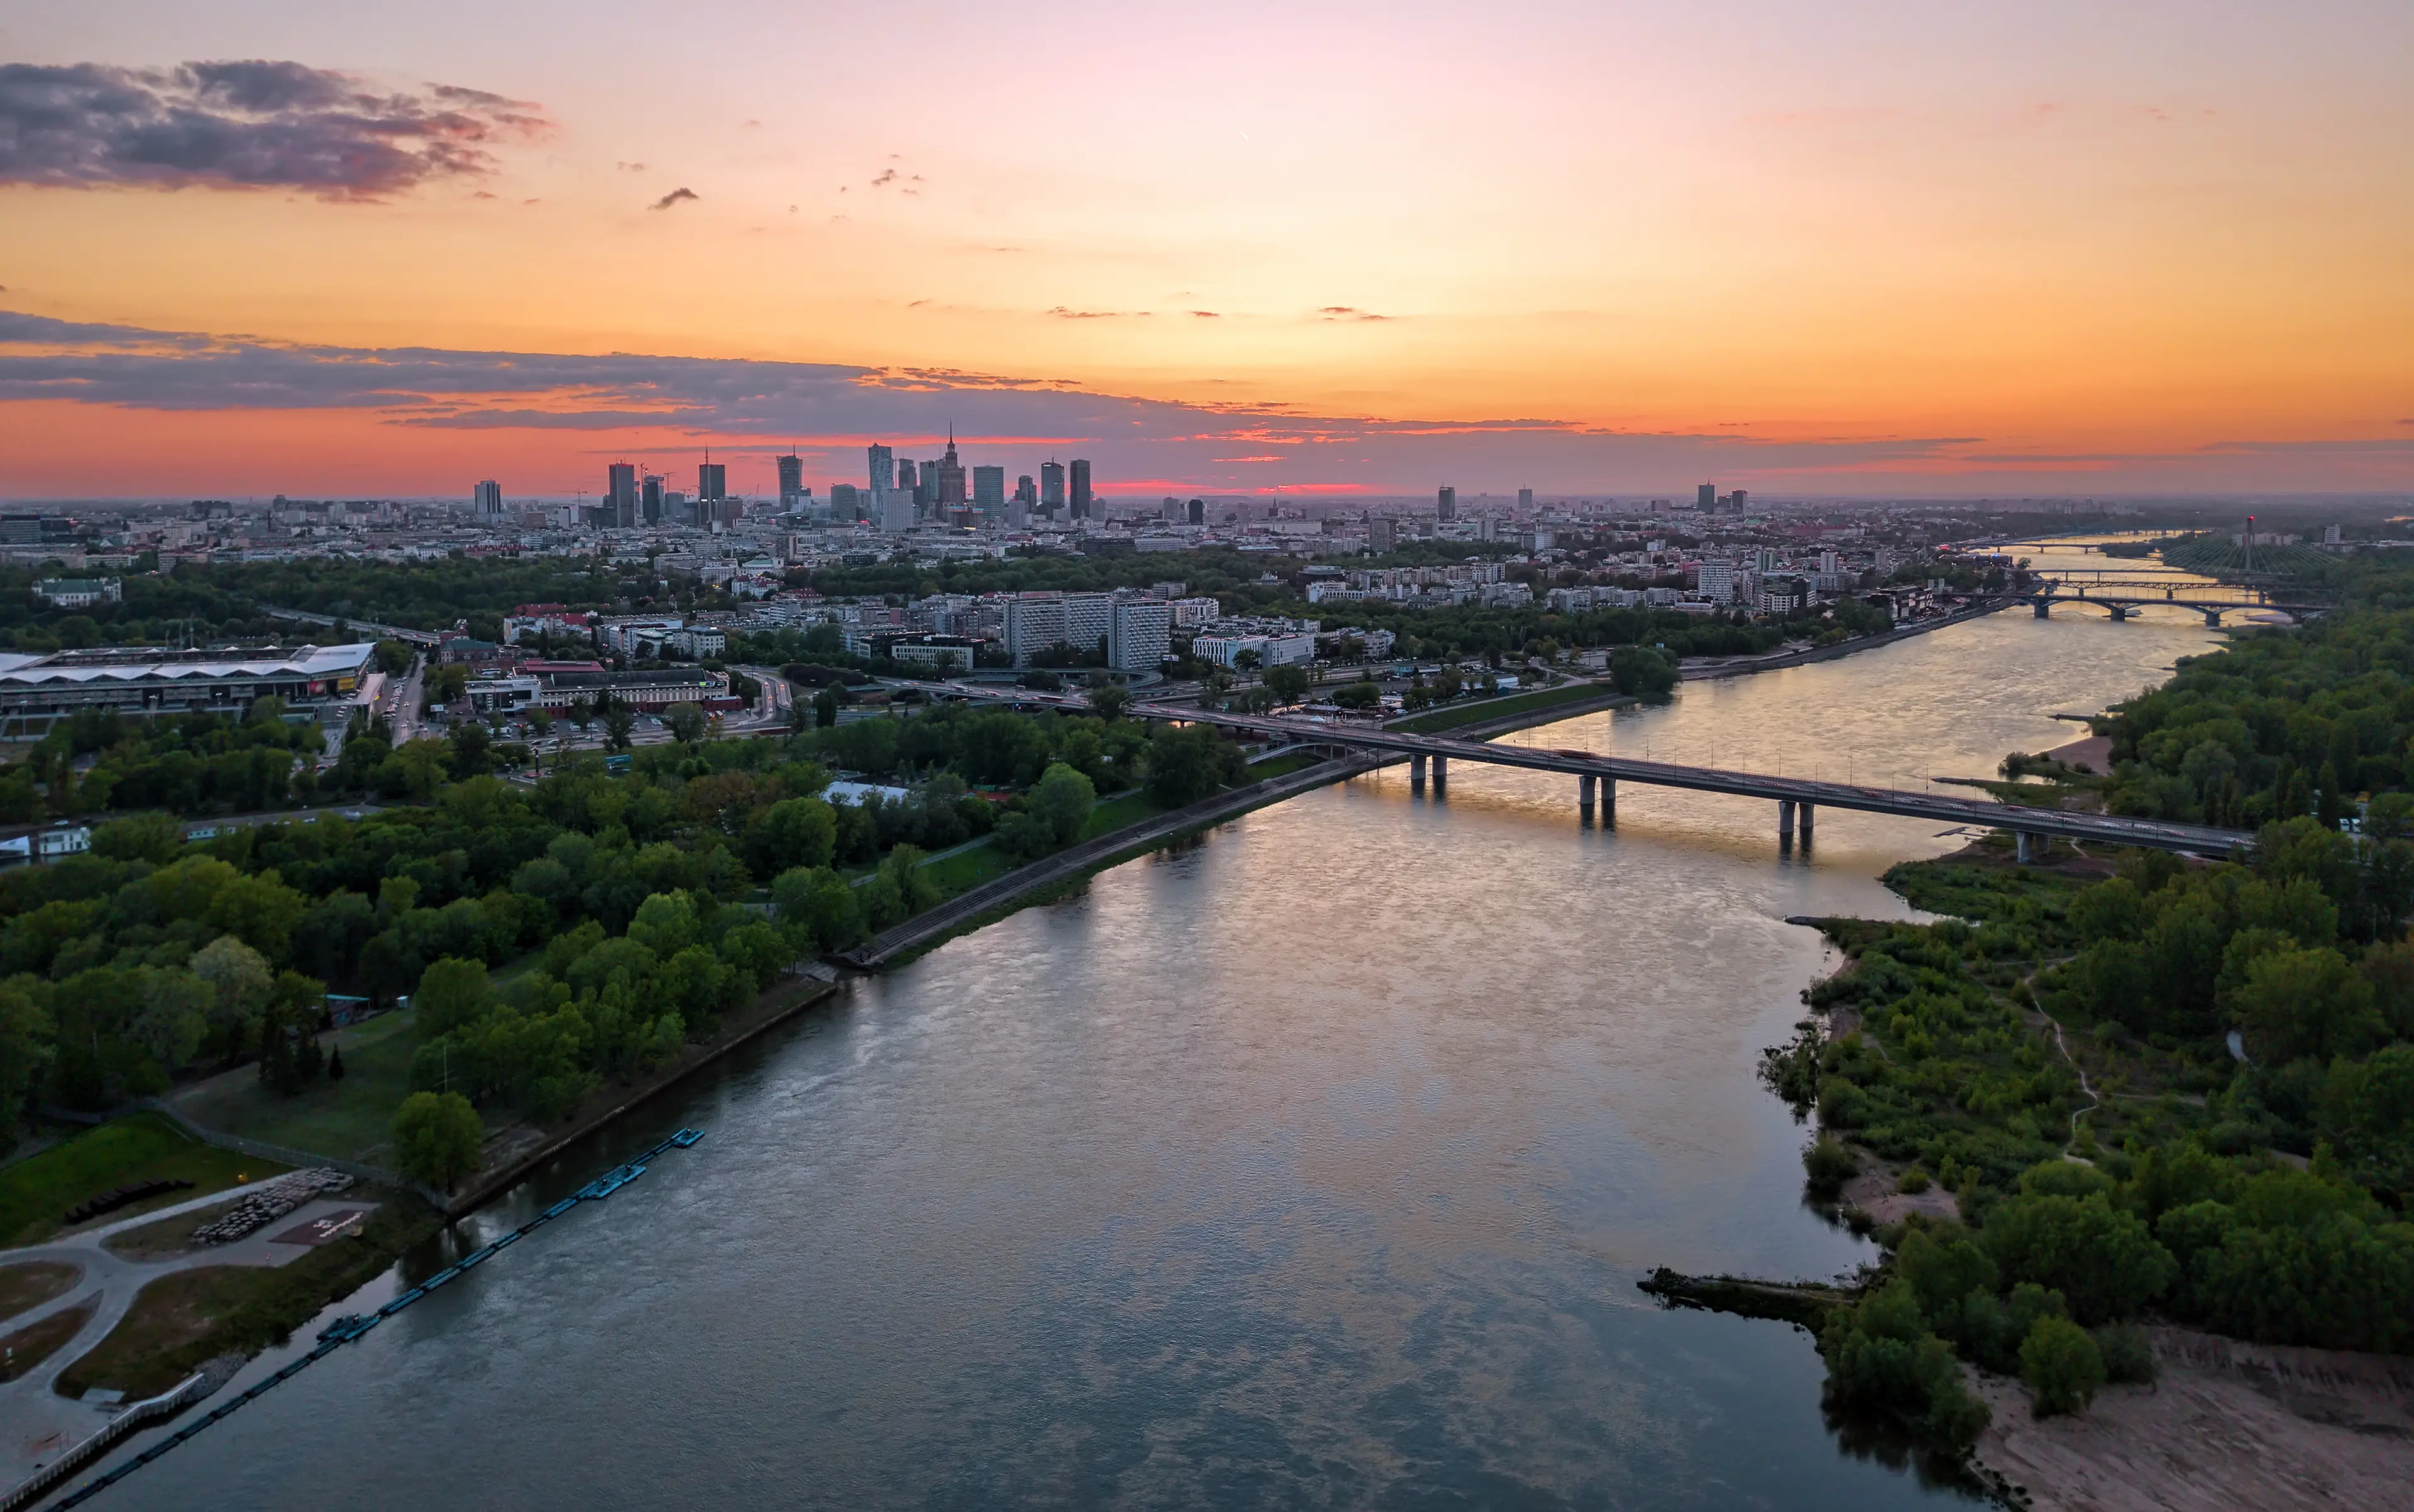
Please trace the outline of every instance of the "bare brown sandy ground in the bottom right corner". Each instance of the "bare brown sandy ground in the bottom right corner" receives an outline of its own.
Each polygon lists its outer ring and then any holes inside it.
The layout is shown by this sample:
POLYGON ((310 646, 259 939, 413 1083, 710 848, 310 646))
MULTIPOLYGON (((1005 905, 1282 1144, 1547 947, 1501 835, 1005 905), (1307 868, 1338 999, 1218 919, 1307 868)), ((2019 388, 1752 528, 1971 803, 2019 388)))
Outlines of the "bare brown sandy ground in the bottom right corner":
POLYGON ((1972 1382, 1982 1466, 2035 1512, 2366 1512, 2414 1507, 2414 1360, 2153 1329, 2163 1377, 2035 1420, 2028 1391, 1972 1382))

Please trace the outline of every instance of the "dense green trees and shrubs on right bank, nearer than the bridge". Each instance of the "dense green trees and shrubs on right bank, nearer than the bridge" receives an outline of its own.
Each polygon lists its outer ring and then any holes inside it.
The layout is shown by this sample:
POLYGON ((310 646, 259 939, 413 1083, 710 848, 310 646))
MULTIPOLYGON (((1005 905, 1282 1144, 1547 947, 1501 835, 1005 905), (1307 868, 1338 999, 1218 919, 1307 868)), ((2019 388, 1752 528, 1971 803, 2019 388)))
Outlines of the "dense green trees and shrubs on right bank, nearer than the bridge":
POLYGON ((1965 1223, 1883 1235, 1888 1285, 1823 1334, 1832 1389, 1965 1442, 1984 1411, 1953 1358, 2066 1411, 2151 1370, 2139 1317, 2414 1353, 2400 849, 2296 817, 2252 863, 2151 854, 2059 892, 1963 868, 1972 919, 1839 926, 1852 965, 1810 998, 1844 1032, 1765 1063, 1820 1114, 1813 1189, 1861 1148, 1909 1162, 1905 1189, 1955 1189, 1965 1223))

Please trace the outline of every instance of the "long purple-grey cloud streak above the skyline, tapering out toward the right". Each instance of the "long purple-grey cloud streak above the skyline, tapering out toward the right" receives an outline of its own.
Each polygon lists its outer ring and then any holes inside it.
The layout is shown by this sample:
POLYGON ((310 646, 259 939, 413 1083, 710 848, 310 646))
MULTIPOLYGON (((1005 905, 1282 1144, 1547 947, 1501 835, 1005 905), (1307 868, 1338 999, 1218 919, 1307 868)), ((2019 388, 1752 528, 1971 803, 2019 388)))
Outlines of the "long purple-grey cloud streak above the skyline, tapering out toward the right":
POLYGON ((1081 449, 1130 480, 1185 487, 1383 487, 1514 475, 1540 487, 1673 487, 1699 477, 1948 463, 1960 439, 1750 441, 1555 420, 1366 420, 1279 405, 1089 393, 1067 381, 823 362, 439 347, 307 347, 0 313, 0 403, 128 410, 362 410, 415 429, 649 429, 664 444, 937 436, 990 451, 1081 449), (1371 461, 1369 461, 1371 458, 1371 461))

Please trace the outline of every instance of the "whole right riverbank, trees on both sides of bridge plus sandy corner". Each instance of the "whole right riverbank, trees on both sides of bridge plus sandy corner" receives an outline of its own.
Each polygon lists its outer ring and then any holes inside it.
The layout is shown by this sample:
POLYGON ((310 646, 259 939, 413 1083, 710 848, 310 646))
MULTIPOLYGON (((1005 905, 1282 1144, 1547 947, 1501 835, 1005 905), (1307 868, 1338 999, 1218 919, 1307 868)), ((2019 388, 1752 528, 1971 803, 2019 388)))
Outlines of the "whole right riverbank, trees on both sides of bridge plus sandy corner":
POLYGON ((1888 873, 1941 921, 1820 921, 1844 967, 1762 1073, 1818 1114, 1813 1201, 1885 1261, 1844 1297, 1649 1290, 1794 1307, 1830 1399, 2037 1507, 2402 1498, 2409 668, 2414 613, 2363 610, 2194 658, 2098 721, 2112 774, 2064 786, 2117 813, 2260 822, 2247 861, 2018 863, 1996 837, 1888 873))

